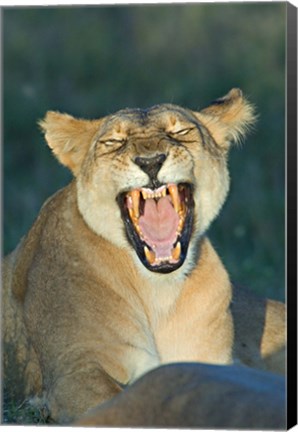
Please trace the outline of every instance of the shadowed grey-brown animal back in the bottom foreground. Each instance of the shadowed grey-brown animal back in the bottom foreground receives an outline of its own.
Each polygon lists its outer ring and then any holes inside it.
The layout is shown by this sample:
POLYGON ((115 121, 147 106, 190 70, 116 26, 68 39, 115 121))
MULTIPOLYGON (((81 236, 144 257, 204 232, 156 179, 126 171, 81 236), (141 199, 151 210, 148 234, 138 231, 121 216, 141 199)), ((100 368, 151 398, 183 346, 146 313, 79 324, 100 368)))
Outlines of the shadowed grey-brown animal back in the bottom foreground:
POLYGON ((76 426, 284 430, 285 380, 235 365, 164 365, 90 410, 76 426))

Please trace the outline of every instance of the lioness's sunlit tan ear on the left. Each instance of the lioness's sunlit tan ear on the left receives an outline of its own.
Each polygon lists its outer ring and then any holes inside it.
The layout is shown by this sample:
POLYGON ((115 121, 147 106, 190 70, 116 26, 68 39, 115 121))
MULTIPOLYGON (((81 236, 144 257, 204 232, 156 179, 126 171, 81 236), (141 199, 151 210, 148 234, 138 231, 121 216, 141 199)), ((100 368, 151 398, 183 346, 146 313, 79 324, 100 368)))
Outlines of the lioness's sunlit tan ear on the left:
POLYGON ((77 175, 101 122, 48 111, 39 126, 57 159, 77 175))

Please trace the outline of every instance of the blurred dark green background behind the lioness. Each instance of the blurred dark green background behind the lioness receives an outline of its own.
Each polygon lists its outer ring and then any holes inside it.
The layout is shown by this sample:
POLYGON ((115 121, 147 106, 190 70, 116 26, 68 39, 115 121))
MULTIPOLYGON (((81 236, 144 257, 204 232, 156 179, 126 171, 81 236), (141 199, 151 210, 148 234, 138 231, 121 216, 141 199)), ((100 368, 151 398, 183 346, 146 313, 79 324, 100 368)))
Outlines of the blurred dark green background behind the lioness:
POLYGON ((199 109, 240 87, 259 121, 210 237, 233 280, 283 300, 285 19, 285 2, 4 9, 3 252, 71 178, 38 130, 47 110, 199 109))

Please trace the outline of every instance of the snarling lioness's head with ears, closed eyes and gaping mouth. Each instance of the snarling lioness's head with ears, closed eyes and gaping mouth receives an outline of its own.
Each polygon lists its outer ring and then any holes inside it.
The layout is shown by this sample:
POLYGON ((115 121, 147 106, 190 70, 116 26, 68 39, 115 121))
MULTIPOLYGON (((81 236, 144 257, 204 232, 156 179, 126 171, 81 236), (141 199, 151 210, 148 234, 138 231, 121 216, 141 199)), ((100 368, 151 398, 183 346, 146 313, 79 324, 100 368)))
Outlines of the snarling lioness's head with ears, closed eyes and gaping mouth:
POLYGON ((253 123, 238 89, 200 112, 162 104, 99 120, 48 112, 41 126, 76 177, 89 227, 152 272, 193 260, 229 189, 227 155, 253 123))

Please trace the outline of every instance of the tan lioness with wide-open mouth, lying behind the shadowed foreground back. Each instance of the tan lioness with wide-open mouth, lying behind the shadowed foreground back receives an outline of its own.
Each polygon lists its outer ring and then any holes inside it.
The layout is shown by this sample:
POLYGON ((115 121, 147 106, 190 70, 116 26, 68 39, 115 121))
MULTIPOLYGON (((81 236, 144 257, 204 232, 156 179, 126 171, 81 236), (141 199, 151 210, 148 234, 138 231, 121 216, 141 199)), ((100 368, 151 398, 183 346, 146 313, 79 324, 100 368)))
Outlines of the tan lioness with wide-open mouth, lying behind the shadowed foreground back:
POLYGON ((230 144, 253 122, 238 89, 200 112, 41 121, 74 180, 4 260, 5 375, 18 371, 55 421, 165 363, 283 372, 284 306, 233 287, 206 237, 228 193, 230 144))

